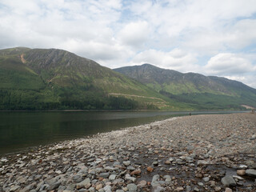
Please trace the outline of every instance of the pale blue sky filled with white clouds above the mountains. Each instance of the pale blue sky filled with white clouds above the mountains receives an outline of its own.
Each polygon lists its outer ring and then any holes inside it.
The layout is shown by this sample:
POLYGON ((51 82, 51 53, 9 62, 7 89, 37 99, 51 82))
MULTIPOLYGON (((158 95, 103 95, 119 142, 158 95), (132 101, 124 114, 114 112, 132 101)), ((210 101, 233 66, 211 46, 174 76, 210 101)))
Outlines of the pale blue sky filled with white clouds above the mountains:
POLYGON ((256 88, 255 0, 0 0, 0 49, 57 48, 256 88))

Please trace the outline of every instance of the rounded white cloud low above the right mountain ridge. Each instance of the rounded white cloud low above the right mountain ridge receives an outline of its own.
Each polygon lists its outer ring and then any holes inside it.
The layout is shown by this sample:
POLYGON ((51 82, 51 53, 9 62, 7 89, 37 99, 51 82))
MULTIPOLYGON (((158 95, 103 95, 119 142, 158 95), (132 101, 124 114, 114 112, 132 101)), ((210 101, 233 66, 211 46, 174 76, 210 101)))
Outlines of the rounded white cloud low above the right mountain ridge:
POLYGON ((217 54, 210 58, 205 66, 207 74, 246 74, 254 70, 254 66, 246 58, 236 54, 217 54))

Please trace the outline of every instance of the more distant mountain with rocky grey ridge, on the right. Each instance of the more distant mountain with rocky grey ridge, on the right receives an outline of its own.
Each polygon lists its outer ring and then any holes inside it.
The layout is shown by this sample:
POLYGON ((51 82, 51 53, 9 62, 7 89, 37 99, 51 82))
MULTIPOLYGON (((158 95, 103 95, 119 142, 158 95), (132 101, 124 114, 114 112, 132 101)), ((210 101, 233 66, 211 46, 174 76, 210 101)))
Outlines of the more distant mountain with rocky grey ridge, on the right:
POLYGON ((242 109, 256 106, 256 90, 242 82, 202 74, 182 74, 144 64, 114 69, 134 78, 162 95, 197 110, 242 109))

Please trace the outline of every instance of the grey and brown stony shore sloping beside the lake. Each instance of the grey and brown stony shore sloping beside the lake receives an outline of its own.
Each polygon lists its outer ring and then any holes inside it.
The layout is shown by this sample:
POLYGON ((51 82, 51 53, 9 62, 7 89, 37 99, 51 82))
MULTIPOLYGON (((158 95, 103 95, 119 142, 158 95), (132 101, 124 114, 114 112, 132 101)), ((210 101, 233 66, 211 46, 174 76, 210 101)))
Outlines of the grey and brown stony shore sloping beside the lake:
POLYGON ((256 114, 170 118, 0 158, 0 191, 256 191, 256 114))

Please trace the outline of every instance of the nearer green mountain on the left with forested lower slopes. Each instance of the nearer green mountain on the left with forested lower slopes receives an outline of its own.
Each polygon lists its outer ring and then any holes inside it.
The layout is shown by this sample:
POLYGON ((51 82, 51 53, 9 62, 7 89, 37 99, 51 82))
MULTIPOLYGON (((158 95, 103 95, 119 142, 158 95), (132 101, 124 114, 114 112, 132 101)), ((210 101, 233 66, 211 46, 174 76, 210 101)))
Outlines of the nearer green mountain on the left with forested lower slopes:
POLYGON ((161 109, 170 102, 152 88, 66 50, 0 50, 0 110, 161 109))

